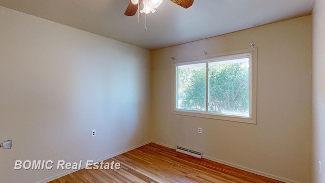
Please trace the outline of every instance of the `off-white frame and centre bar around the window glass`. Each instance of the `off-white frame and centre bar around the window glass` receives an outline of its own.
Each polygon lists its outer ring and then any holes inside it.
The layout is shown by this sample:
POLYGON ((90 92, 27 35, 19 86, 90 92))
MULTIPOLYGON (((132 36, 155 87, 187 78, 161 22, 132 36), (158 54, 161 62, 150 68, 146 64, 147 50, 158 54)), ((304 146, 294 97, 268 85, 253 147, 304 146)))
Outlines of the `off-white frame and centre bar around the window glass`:
MULTIPOLYGON (((207 73, 207 81, 209 80, 207 73)), ((207 92, 208 95, 208 83, 207 83, 207 92)), ((206 100, 208 102, 208 96, 206 96, 206 100)), ((175 59, 172 62, 172 114, 178 115, 186 115, 186 116, 194 116, 194 117, 203 117, 203 118, 211 118, 211 119, 219 119, 226 121, 236 121, 241 123, 248 124, 257 124, 257 114, 256 114, 256 103, 257 103, 257 48, 248 48, 237 51, 230 51, 224 53, 217 53, 211 55, 204 55, 199 57, 192 58, 183 58, 183 59, 175 59), (218 114, 218 113, 209 113, 207 111, 192 111, 192 110, 184 110, 177 109, 176 95, 177 95, 177 66, 186 65, 186 64, 197 64, 204 62, 213 62, 214 61, 222 61, 224 59, 229 59, 230 56, 234 56, 232 58, 240 58, 243 56, 250 55, 249 60, 249 117, 244 116, 235 116, 235 115, 226 115, 226 114, 218 114), (236 57, 235 57, 236 56, 236 57)))

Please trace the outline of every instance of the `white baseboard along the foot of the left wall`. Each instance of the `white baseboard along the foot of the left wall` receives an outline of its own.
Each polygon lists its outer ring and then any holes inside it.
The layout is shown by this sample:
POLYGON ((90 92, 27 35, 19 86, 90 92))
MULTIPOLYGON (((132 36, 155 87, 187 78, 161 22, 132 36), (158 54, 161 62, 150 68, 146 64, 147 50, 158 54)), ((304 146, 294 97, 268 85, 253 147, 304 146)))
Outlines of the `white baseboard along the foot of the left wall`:
MULTIPOLYGON (((102 161, 107 160, 107 159, 110 159, 110 158, 113 158, 113 157, 115 157, 115 156, 117 156, 117 155, 120 155, 120 154, 126 153, 127 151, 130 151, 130 150, 133 150, 133 149, 135 149, 135 148, 138 148, 138 147, 141 147, 141 146, 147 145, 148 143, 151 143, 151 141, 148 141, 148 142, 145 142, 145 143, 142 143, 142 144, 139 144, 139 145, 136 145, 136 146, 133 146, 133 147, 130 147, 130 148, 127 148, 127 149, 121 150, 121 151, 119 151, 118 153, 114 153, 114 154, 112 154, 112 155, 109 155, 109 156, 106 156, 106 157, 101 158, 101 159, 99 159, 99 160, 96 160, 96 161, 93 162, 93 164, 95 164, 95 163, 99 163, 99 162, 102 162, 102 161)), ((84 169, 84 168, 86 168, 86 164, 81 165, 81 169, 84 169)), ((79 170, 79 169, 78 169, 78 170, 79 170)), ((57 175, 51 176, 51 177, 49 177, 49 178, 46 178, 46 179, 44 179, 44 180, 40 180, 40 181, 38 181, 38 182, 36 182, 36 183, 46 183, 46 182, 49 182, 49 181, 55 180, 55 179, 57 179, 57 178, 60 178, 60 177, 62 177, 62 176, 68 175, 68 174, 70 174, 70 173, 76 172, 76 171, 78 171, 78 170, 68 170, 68 171, 62 172, 62 173, 60 173, 60 174, 57 174, 57 175)))

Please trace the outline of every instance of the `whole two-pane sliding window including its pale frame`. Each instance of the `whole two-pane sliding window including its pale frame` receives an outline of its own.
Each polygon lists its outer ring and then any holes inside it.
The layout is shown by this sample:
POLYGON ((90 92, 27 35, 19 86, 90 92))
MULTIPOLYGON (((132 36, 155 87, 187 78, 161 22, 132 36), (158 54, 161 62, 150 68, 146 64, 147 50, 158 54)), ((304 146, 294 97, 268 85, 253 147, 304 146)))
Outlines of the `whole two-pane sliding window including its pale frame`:
POLYGON ((256 48, 174 60, 173 114, 256 124, 256 48))

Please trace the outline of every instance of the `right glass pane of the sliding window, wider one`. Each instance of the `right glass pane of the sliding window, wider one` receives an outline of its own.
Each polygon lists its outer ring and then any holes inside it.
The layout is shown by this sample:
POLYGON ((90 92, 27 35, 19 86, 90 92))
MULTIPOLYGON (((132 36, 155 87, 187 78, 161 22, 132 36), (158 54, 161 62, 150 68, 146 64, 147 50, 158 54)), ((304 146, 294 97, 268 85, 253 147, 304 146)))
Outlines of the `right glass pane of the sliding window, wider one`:
POLYGON ((249 58, 209 63, 209 112, 249 117, 249 58))

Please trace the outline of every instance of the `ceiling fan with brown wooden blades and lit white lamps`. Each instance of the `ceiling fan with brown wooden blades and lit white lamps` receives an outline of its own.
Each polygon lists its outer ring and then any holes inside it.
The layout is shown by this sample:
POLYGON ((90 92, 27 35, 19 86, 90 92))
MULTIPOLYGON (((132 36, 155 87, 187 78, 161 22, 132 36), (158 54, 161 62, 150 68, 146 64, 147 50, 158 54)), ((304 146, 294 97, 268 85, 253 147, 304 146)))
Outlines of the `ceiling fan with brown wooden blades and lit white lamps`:
MULTIPOLYGON (((151 3, 151 2, 154 2, 155 5, 157 5, 156 7, 158 7, 161 2, 163 0, 154 0, 154 1, 149 1, 149 0, 143 0, 145 4, 147 3, 151 3)), ((132 0, 130 1, 130 3, 128 4, 126 10, 125 10, 125 13, 124 15, 126 16, 134 16, 137 11, 138 11, 138 8, 139 8, 139 5, 141 4, 142 0, 132 0)), ((171 2, 183 7, 183 8, 188 8, 190 6, 192 6, 194 0, 171 0, 171 2)), ((144 10, 142 10, 141 13, 145 12, 146 14, 149 13, 149 12, 152 12, 154 13, 155 12, 155 9, 154 8, 148 8, 147 10, 144 8, 144 10)))

